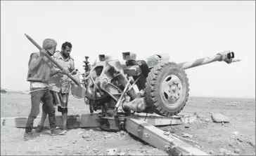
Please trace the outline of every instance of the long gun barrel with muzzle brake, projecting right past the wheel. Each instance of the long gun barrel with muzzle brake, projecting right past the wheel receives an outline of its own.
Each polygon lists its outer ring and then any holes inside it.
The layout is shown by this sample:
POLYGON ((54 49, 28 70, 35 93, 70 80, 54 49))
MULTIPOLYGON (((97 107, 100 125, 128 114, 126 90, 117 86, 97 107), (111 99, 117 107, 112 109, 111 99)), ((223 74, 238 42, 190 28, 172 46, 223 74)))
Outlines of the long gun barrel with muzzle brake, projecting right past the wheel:
POLYGON ((235 57, 235 55, 233 52, 224 51, 224 52, 220 52, 217 55, 214 55, 212 57, 204 57, 204 58, 196 59, 196 60, 190 61, 190 62, 182 62, 178 65, 181 66, 182 69, 191 69, 195 66, 202 66, 204 64, 210 64, 212 62, 224 61, 227 64, 231 64, 231 62, 240 61, 240 60, 233 60, 234 57, 235 57))

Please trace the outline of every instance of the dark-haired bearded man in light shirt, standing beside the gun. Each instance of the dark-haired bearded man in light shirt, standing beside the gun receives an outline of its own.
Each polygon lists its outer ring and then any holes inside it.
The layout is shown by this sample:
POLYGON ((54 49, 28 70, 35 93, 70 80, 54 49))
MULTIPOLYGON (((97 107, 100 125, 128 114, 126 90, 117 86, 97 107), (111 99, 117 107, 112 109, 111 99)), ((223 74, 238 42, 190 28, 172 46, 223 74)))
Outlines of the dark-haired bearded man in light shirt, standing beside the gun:
MULTIPOLYGON (((60 66, 68 71, 71 75, 75 75, 77 71, 75 70, 74 59, 70 56, 72 50, 72 44, 69 42, 63 43, 61 46, 61 51, 56 52, 53 55, 53 59, 60 64, 60 66)), ((53 70, 59 70, 57 66, 53 66, 53 70)), ((67 130, 67 120, 68 120, 68 97, 70 93, 70 78, 61 73, 57 73, 55 76, 49 78, 49 85, 51 86, 51 94, 53 95, 53 101, 58 106, 58 112, 62 113, 62 125, 63 130, 67 130)), ((37 132, 41 132, 44 128, 44 121, 46 119, 46 107, 43 106, 43 113, 41 115, 41 121, 37 127, 37 132)))

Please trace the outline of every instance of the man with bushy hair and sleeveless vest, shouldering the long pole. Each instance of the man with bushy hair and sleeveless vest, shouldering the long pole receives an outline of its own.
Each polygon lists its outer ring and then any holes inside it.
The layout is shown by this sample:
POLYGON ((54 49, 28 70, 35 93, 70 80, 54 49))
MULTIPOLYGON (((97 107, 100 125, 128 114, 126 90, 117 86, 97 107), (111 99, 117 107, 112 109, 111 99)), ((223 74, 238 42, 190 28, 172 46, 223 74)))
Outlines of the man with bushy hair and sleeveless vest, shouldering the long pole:
MULTIPOLYGON (((60 129, 56 129, 56 117, 55 108, 53 106, 53 98, 49 91, 48 80, 50 76, 59 74, 61 71, 51 72, 53 62, 45 56, 45 53, 52 56, 56 52, 56 41, 51 38, 46 38, 43 42, 43 49, 40 52, 34 52, 30 55, 28 62, 27 81, 30 81, 30 93, 31 93, 31 111, 27 118, 27 125, 25 127, 24 139, 32 136, 32 128, 34 125, 34 119, 40 112, 40 101, 44 102, 44 108, 47 109, 49 114, 49 122, 51 127, 51 135, 64 134, 65 132, 60 129)), ((62 71, 67 73, 67 71, 62 71)))

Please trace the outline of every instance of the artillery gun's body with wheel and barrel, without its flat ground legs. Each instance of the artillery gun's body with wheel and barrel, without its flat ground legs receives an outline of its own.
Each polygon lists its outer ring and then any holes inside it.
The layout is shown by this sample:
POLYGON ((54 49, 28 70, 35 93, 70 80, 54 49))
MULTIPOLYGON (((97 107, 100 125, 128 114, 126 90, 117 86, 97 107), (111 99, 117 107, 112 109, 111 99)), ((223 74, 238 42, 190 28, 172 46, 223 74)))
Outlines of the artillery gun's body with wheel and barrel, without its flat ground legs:
MULTIPOLYGON (((125 64, 108 55, 99 55, 99 62, 84 73, 84 101, 91 113, 101 110, 99 121, 104 130, 124 129, 125 117, 134 113, 178 115, 189 96, 185 69, 217 61, 227 64, 239 61, 233 60, 231 51, 180 64, 169 62, 168 54, 136 60, 136 54, 122 52, 122 58, 125 64)), ((88 60, 85 63, 88 66, 88 60)))

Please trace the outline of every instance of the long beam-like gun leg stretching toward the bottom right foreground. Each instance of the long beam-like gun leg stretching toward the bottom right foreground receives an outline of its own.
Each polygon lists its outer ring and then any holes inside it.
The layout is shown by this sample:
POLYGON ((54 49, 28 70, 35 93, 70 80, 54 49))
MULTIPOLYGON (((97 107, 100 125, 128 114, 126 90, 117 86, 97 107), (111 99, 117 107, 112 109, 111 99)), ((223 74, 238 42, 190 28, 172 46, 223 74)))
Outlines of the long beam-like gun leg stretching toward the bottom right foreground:
POLYGON ((161 129, 136 118, 127 118, 125 129, 155 148, 165 150, 169 155, 208 155, 170 134, 165 135, 161 129))

